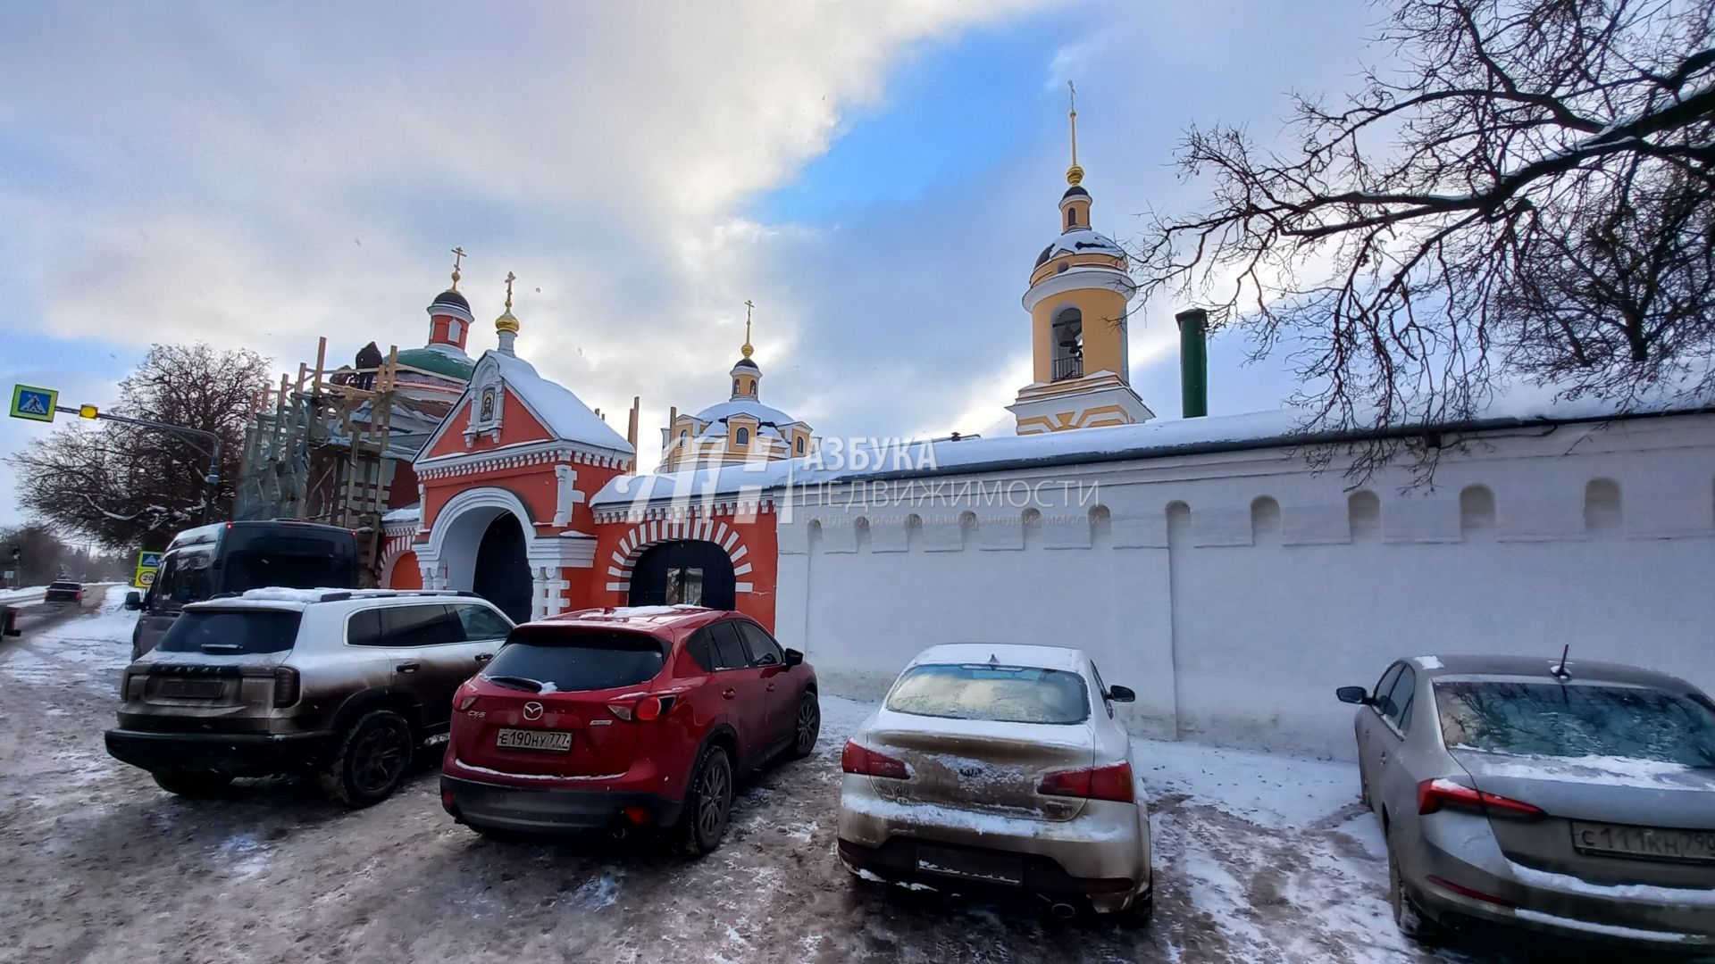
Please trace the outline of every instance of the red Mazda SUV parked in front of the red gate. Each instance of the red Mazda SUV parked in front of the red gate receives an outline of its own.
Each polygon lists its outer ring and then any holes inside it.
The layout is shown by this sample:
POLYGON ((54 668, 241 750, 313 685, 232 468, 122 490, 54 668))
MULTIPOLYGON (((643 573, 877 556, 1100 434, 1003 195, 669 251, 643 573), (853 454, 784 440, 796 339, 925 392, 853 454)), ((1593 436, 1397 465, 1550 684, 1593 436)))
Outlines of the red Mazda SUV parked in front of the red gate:
POLYGON ((748 618, 585 609, 518 626, 460 686, 441 804, 484 834, 659 827, 705 854, 736 775, 820 731, 804 654, 748 618))

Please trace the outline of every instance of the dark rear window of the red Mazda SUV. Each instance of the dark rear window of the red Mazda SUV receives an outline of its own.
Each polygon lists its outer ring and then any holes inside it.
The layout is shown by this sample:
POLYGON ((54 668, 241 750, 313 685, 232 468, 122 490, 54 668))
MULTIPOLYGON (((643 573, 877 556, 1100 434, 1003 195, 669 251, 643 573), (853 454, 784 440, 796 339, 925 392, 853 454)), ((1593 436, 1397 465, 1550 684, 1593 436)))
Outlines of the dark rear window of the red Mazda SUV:
POLYGON ((514 630, 494 654, 484 679, 542 691, 612 690, 660 674, 667 643, 645 633, 514 630))

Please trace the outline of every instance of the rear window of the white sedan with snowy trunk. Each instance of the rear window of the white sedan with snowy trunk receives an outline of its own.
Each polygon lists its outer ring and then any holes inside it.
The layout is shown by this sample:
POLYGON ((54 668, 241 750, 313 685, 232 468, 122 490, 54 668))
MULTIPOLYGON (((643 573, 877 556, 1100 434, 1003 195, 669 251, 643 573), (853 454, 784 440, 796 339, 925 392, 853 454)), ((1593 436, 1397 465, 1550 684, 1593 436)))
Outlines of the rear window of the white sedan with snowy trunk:
POLYGON ((899 678, 887 708, 960 720, 1077 724, 1089 719, 1084 678, 1029 666, 914 666, 899 678))

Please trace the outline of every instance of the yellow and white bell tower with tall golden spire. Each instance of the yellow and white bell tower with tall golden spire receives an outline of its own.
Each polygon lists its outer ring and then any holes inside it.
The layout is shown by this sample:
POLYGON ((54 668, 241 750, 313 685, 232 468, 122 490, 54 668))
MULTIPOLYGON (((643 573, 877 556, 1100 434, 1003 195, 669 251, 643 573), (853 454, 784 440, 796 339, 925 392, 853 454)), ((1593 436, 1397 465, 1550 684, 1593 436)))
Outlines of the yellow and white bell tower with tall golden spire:
POLYGON ((1060 237, 1036 257, 1024 292, 1034 381, 1007 407, 1019 419, 1020 436, 1154 419, 1132 391, 1127 357, 1127 305, 1137 283, 1127 271, 1125 249, 1091 228, 1091 196, 1077 163, 1075 101, 1070 122, 1072 166, 1060 196, 1060 237))

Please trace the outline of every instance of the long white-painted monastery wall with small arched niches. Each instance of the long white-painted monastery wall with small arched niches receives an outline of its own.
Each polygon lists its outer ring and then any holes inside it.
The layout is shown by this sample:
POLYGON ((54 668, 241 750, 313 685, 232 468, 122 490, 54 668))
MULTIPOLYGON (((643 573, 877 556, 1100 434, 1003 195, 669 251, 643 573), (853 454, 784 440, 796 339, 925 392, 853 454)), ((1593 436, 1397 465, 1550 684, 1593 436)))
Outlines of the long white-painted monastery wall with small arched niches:
POLYGON ((976 494, 864 508, 849 489, 799 492, 780 516, 780 638, 861 696, 931 643, 1077 645, 1137 690, 1139 732, 1346 758, 1334 688, 1403 655, 1549 660, 1571 643, 1574 660, 1715 690, 1712 415, 1487 436, 1405 492, 1403 470, 1348 491, 1285 449, 919 491, 1015 480, 1096 496, 1026 523, 976 494))

